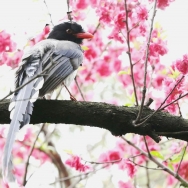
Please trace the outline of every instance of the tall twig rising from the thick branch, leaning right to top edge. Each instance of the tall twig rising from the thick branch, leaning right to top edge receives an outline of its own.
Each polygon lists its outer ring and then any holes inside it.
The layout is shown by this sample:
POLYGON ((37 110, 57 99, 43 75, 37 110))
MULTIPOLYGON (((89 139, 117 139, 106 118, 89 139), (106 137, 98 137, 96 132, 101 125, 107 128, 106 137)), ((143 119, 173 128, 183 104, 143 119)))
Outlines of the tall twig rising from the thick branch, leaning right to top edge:
POLYGON ((143 90, 142 90, 142 101, 141 101, 140 109, 138 112, 138 116, 135 120, 135 124, 137 124, 140 121, 140 118, 142 115, 142 110, 144 107, 145 96, 146 96, 146 77, 147 77, 147 66, 148 66, 148 58, 149 58, 149 46, 150 46, 151 35, 152 35, 152 31, 153 31, 154 18, 155 18, 156 11, 157 11, 156 8, 157 8, 157 0, 155 0, 155 3, 154 3, 153 16, 151 19, 151 27, 150 27, 149 38, 148 38, 147 48, 146 48, 146 59, 144 62, 144 86, 143 86, 143 90))

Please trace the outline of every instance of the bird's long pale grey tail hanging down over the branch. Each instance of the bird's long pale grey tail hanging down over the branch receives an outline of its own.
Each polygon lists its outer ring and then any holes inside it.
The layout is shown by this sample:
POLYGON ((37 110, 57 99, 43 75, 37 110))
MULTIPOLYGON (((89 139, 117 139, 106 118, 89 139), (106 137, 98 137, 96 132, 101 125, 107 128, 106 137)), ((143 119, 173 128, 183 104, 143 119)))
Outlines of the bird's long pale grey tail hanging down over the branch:
MULTIPOLYGON (((26 77, 23 84, 27 83, 30 79, 31 77, 26 77)), ((18 91, 9 106, 9 110, 11 111, 11 123, 4 147, 2 162, 3 179, 8 183, 15 182, 11 153, 16 133, 19 128, 30 122, 30 115, 33 111, 33 102, 37 99, 38 90, 42 87, 43 82, 43 77, 39 77, 28 83, 25 87, 18 91)))

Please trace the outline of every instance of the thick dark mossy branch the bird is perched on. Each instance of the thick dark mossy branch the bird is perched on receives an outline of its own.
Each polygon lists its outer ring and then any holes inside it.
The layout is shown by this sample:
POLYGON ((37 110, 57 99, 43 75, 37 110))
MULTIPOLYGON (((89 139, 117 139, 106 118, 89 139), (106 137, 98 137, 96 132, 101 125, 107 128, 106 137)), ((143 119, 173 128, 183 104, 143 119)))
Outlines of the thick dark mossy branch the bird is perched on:
MULTIPOLYGON (((0 124, 8 124, 7 103, 0 104, 0 124)), ((143 117, 153 113, 144 107, 143 117)), ((126 133, 149 135, 154 130, 159 136, 173 137, 188 141, 188 120, 157 112, 147 121, 147 125, 135 127, 132 121, 138 114, 138 107, 115 106, 96 102, 75 102, 57 100, 37 100, 34 103, 31 123, 64 123, 99 127, 109 130, 113 135, 126 133)))

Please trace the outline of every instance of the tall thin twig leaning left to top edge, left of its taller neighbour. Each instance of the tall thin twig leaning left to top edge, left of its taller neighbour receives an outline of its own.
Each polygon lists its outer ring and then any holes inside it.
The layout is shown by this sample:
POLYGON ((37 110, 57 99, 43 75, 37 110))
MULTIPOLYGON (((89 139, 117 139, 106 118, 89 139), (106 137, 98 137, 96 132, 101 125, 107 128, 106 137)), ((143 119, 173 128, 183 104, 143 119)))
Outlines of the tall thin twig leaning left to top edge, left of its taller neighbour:
POLYGON ((133 90, 134 90, 134 96, 135 96, 135 100, 136 100, 136 105, 138 106, 138 98, 137 98, 137 91, 136 91, 136 85, 135 85, 135 80, 134 80, 134 72, 133 72, 133 63, 132 63, 132 57, 131 57, 131 47, 130 47, 130 30, 129 30, 129 22, 128 22, 128 8, 127 8, 127 0, 125 1, 125 14, 126 14, 126 20, 125 20, 125 25, 126 25, 126 29, 127 29, 127 37, 126 37, 126 41, 127 41, 127 47, 128 47, 128 57, 129 57, 129 63, 130 63, 130 69, 131 69, 131 80, 132 80, 132 84, 133 84, 133 90))

